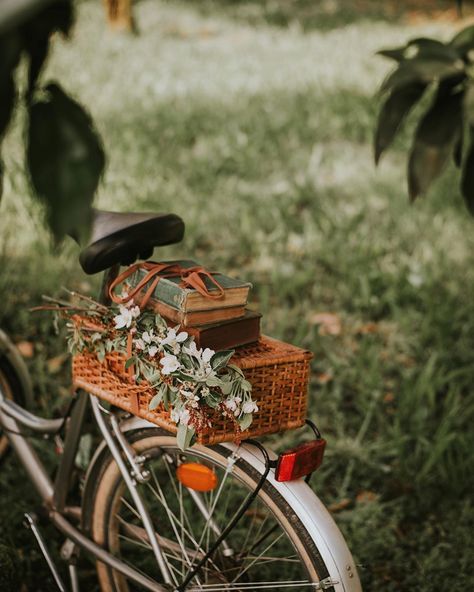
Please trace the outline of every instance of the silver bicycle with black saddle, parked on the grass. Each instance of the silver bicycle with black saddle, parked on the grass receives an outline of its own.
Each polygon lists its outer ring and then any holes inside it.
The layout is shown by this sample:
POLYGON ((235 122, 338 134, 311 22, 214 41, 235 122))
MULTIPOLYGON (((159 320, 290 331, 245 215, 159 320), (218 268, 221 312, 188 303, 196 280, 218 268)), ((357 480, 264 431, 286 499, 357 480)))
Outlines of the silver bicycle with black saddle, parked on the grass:
MULTIPOLYGON (((100 302, 108 303, 107 287, 121 265, 148 258, 155 247, 179 242, 183 233, 183 222, 173 214, 95 210, 91 239, 79 259, 87 273, 104 272, 100 302)), ((36 517, 25 515, 59 590, 78 592, 76 561, 83 550, 95 559, 105 591, 137 586, 155 592, 361 591, 352 556, 329 512, 305 479, 277 481, 277 455, 259 442, 194 445, 183 452, 169 432, 106 409, 84 391, 59 419, 34 415, 28 410, 32 403, 25 364, 0 332, 0 453, 8 442, 47 518, 65 537, 61 557, 69 587, 36 517), (100 442, 83 478, 80 504, 71 505, 88 409, 100 442), (28 441, 38 434, 56 443, 63 435, 54 482, 28 441), (190 462, 211 469, 217 487, 206 493, 183 486, 176 471, 190 462)))

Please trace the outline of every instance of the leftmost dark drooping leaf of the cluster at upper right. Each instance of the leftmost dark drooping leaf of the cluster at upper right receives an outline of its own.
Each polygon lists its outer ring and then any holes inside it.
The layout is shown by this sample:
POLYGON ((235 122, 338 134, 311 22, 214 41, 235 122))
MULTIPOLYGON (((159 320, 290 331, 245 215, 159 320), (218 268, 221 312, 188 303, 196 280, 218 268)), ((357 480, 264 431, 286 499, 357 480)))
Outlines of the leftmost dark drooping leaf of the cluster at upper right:
POLYGON ((413 84, 395 89, 380 110, 375 132, 375 163, 382 153, 390 146, 398 128, 411 108, 425 92, 426 84, 413 84))

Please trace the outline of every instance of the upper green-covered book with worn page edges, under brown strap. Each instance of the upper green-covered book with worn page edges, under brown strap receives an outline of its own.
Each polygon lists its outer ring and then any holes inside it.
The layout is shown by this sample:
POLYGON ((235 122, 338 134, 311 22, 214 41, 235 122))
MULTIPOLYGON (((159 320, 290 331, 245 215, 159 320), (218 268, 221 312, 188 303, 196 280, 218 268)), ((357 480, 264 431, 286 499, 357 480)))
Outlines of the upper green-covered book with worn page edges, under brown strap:
MULTIPOLYGON (((163 261, 166 264, 177 264, 183 268, 196 267, 199 264, 191 260, 163 261)), ((132 285, 135 286, 148 272, 139 269, 132 276, 132 285)), ((201 276, 202 277, 202 276, 201 276)), ((213 278, 222 286, 225 291, 222 299, 210 299, 202 296, 194 288, 183 288, 180 277, 164 278, 158 282, 153 293, 153 298, 160 300, 177 310, 211 310, 227 308, 231 306, 245 306, 252 284, 239 279, 231 278, 222 273, 214 273, 213 278), (190 297, 191 296, 191 297, 190 297)), ((207 289, 210 292, 217 291, 217 287, 208 279, 203 278, 207 289)))

